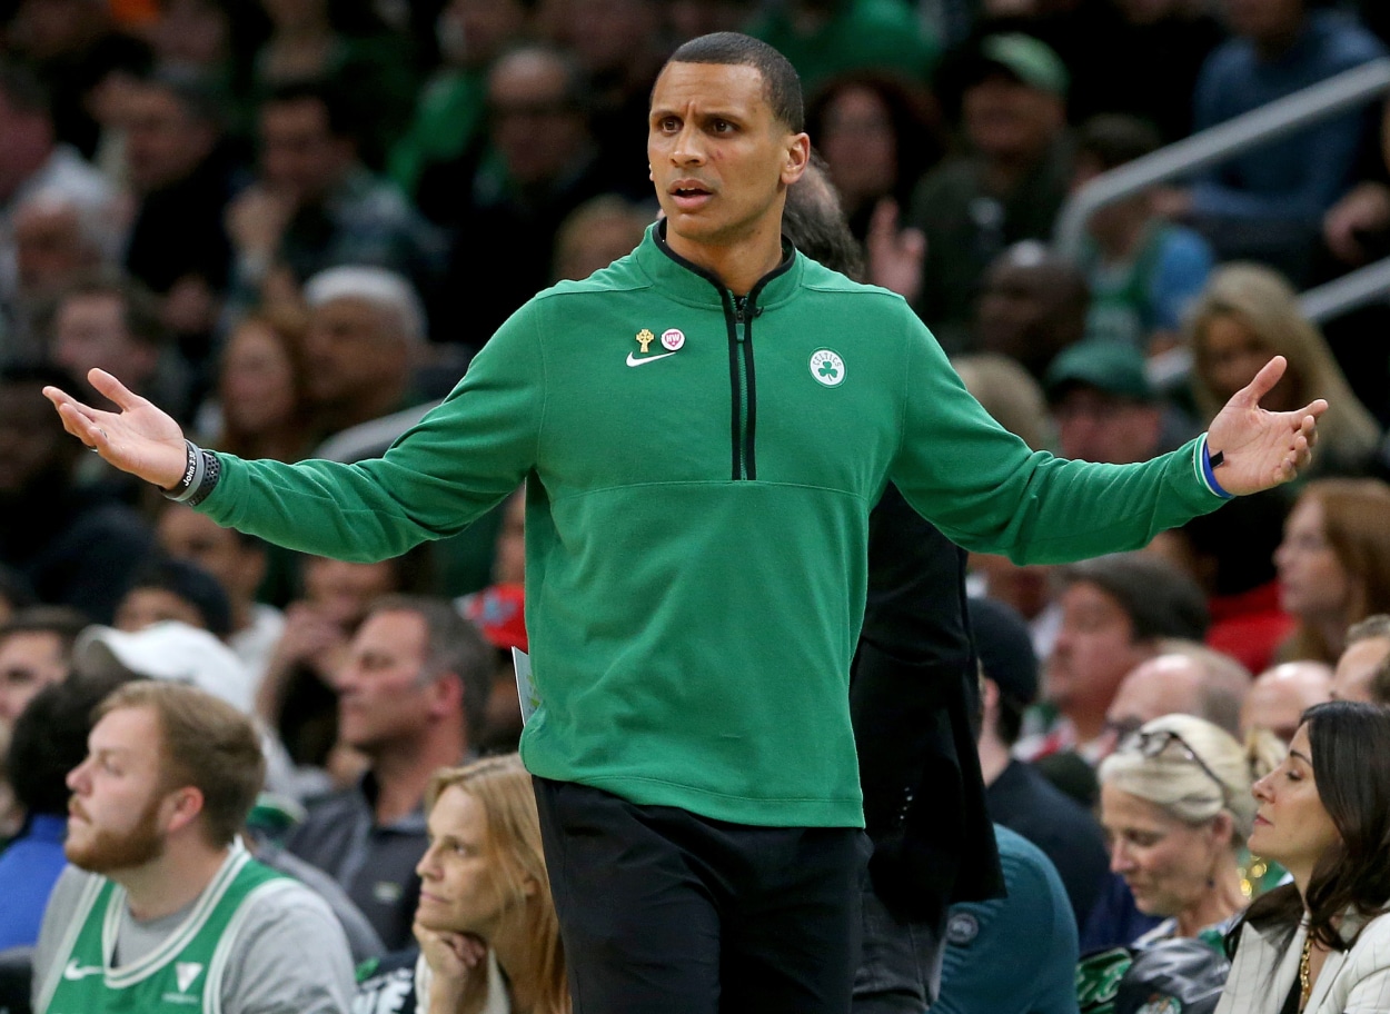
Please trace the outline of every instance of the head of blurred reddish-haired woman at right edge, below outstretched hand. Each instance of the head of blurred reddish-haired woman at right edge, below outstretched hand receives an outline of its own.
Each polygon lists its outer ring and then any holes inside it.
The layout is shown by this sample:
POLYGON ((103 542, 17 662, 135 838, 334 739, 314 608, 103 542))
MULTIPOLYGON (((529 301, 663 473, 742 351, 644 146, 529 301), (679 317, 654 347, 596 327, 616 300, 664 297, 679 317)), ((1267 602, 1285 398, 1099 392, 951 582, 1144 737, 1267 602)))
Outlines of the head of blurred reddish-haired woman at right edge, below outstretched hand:
POLYGON ((1280 606, 1298 621, 1277 657, 1334 665, 1348 626, 1390 613, 1390 485, 1309 482, 1284 522, 1275 567, 1280 606))

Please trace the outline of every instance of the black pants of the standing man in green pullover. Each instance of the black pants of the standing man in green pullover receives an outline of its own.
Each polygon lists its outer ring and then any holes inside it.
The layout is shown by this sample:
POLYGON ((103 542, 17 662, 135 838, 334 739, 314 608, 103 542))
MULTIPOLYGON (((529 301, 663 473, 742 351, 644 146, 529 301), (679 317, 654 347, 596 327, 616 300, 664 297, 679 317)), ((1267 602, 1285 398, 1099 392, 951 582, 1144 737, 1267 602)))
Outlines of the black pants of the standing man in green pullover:
POLYGON ((847 1014, 867 838, 535 781, 574 1014, 847 1014))

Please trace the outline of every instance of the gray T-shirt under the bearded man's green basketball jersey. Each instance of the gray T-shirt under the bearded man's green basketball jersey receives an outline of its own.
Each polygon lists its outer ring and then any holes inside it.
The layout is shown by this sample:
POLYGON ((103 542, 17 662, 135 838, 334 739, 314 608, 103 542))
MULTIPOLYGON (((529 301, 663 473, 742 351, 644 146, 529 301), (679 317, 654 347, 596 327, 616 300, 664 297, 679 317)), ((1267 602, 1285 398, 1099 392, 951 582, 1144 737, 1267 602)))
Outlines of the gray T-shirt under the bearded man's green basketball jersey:
MULTIPOLYGON (((49 979, 82 889, 97 874, 67 867, 49 897, 33 951, 33 1004, 49 979)), ((139 961, 158 947, 197 904, 142 922, 121 913, 114 964, 139 961)), ((222 978, 225 1014, 348 1014, 353 965, 348 940, 328 904, 302 883, 246 901, 246 921, 222 978)), ((40 1013, 42 1014, 42 1013, 40 1013)))

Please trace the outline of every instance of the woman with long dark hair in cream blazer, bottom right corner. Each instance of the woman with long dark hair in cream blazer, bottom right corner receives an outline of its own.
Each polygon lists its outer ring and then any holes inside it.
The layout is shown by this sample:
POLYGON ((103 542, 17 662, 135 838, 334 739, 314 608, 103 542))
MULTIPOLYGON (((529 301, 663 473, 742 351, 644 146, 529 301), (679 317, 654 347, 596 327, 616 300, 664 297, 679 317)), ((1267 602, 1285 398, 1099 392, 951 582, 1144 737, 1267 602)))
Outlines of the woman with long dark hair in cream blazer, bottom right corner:
POLYGON ((1250 850, 1293 883, 1251 904, 1227 938, 1216 1014, 1390 1010, 1390 710, 1308 708, 1254 795, 1250 850))

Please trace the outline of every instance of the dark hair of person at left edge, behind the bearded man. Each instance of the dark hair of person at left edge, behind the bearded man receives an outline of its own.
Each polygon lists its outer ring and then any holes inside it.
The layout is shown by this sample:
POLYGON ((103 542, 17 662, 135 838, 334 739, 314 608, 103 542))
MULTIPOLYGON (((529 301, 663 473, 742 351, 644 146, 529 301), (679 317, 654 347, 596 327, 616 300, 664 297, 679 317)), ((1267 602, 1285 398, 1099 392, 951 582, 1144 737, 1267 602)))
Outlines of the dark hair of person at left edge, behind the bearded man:
POLYGON ((31 814, 68 811, 67 776, 86 757, 92 713, 128 675, 70 676, 36 693, 14 722, 7 758, 15 799, 31 814))

